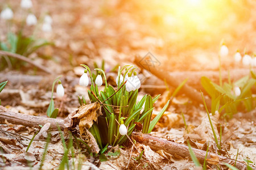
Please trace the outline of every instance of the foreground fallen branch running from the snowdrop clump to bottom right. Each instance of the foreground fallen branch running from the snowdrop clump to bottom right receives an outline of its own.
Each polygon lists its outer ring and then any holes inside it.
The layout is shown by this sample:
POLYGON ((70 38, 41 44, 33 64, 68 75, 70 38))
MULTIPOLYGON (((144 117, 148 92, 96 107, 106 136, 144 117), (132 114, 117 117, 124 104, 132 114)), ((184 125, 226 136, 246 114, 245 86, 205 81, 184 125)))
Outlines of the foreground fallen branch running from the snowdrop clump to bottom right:
MULTIPOLYGON (((144 145, 150 146, 152 150, 164 150, 172 155, 179 155, 183 158, 190 158, 188 146, 181 145, 179 143, 167 141, 167 139, 163 138, 156 138, 152 137, 150 134, 142 134, 142 133, 132 133, 131 138, 135 139, 135 141, 142 143, 144 145)), ((207 154, 206 151, 199 150, 193 148, 193 152, 196 155, 196 158, 199 160, 200 163, 204 163, 205 155, 207 154)), ((214 162, 214 160, 219 160, 220 162, 234 164, 234 160, 226 158, 225 156, 220 156, 216 154, 212 154, 208 152, 207 160, 210 162, 214 162)), ((247 169, 247 166, 241 162, 236 163, 236 167, 238 169, 247 169)), ((255 167, 253 167, 256 169, 255 167)))

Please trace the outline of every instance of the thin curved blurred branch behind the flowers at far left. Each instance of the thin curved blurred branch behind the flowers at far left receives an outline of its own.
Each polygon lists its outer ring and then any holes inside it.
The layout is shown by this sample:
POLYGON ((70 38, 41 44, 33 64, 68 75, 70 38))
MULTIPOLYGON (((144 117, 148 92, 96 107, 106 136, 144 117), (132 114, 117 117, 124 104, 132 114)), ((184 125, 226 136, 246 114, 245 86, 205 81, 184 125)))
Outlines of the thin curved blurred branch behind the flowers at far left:
POLYGON ((34 61, 32 61, 31 59, 24 57, 20 54, 15 54, 15 53, 10 53, 10 52, 6 52, 6 51, 2 51, 0 50, 0 56, 9 56, 9 57, 13 57, 13 58, 17 58, 20 59, 22 61, 26 61, 27 63, 30 63, 31 65, 38 67, 38 69, 46 72, 46 73, 52 73, 50 70, 48 70, 46 67, 39 65, 38 63, 35 63, 34 61))

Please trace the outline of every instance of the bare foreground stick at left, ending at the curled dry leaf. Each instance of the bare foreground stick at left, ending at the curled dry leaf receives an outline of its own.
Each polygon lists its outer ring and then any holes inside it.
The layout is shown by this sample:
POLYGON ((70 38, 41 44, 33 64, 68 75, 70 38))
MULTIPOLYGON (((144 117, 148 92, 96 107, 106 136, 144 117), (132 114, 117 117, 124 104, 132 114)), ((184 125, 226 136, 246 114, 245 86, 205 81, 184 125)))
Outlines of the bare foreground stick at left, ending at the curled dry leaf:
POLYGON ((5 124, 5 121, 11 124, 18 124, 35 128, 39 128, 39 125, 44 125, 46 123, 50 123, 50 127, 52 129, 57 129, 57 125, 59 125, 61 129, 66 128, 64 125, 64 120, 14 113, 8 111, 5 107, 0 105, 0 124, 5 124))

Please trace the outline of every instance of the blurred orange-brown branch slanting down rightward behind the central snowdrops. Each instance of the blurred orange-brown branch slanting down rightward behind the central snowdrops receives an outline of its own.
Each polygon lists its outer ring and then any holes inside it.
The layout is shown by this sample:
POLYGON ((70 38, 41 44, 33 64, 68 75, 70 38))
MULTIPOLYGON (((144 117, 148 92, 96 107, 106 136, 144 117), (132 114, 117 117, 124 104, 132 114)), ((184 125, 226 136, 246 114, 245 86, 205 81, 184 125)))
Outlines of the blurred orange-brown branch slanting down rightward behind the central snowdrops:
MULTIPOLYGON (((174 77, 170 76, 167 74, 167 71, 163 71, 161 67, 154 65, 152 66, 147 63, 148 59, 147 58, 141 58, 141 57, 135 57, 135 64, 138 65, 139 67, 146 69, 150 71, 150 73, 154 74, 157 76, 159 79, 166 80, 168 84, 172 87, 178 87, 181 81, 175 79, 174 77), (146 63, 145 63, 146 62, 146 63), (146 66, 145 66, 146 65, 146 66)), ((190 97, 192 100, 196 100, 199 103, 203 103, 202 97, 200 92, 196 91, 195 88, 192 88, 191 86, 188 86, 188 84, 184 84, 184 86, 180 90, 184 94, 186 94, 188 97, 190 97)), ((205 96, 205 103, 207 104, 208 108, 212 107, 211 101, 208 96, 205 96)))

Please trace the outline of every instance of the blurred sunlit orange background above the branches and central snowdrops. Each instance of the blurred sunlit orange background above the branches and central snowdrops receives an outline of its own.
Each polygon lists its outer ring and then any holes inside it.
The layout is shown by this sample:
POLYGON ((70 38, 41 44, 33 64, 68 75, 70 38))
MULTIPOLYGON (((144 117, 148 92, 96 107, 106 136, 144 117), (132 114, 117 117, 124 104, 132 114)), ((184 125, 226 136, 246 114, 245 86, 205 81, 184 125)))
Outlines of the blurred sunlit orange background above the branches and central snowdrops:
MULTIPOLYGON (((37 29, 35 35, 55 46, 38 50, 36 56, 43 58, 38 62, 49 59, 47 66, 58 73, 102 59, 109 67, 130 63, 147 52, 170 71, 217 70, 222 42, 229 48, 224 64, 233 63, 237 49, 242 55, 254 54, 255 1, 32 1, 27 11, 20 9, 19 1, 0 2, 1 10, 9 6, 14 12, 14 31, 26 12, 33 12, 39 23, 40 17, 51 15, 52 32, 37 29)), ((1 40, 5 40, 7 24, 2 19, 0 23, 1 40)), ((33 30, 23 29, 27 34, 33 30)))

